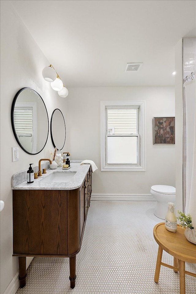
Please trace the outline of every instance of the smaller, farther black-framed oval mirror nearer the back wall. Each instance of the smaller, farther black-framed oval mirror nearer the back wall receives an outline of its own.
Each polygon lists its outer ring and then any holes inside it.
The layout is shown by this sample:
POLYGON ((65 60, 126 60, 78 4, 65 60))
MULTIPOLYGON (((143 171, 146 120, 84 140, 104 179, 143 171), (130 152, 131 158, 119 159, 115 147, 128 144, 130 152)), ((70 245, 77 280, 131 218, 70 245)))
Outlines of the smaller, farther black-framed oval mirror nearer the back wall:
POLYGON ((52 144, 58 150, 62 150, 66 140, 66 125, 64 116, 58 108, 56 108, 52 113, 50 132, 52 144))

